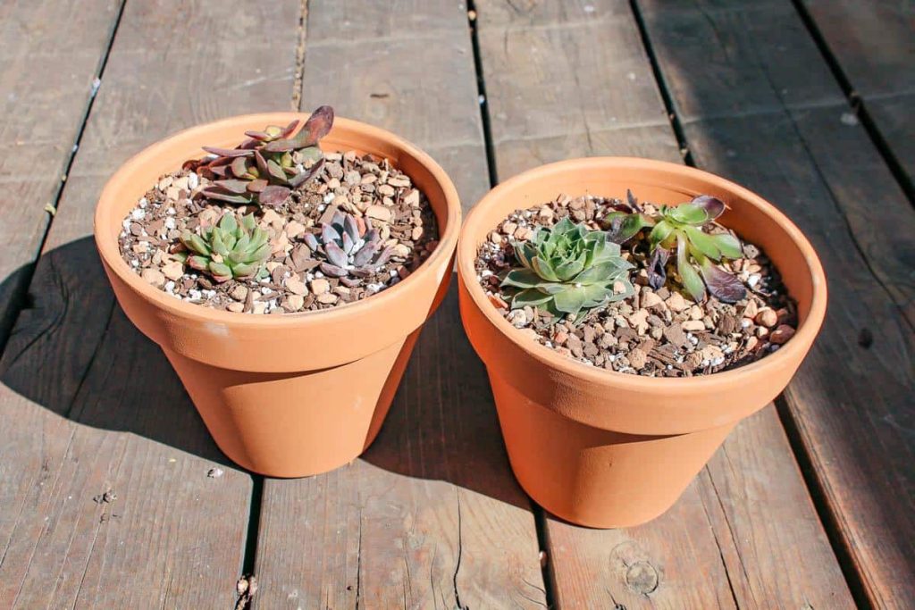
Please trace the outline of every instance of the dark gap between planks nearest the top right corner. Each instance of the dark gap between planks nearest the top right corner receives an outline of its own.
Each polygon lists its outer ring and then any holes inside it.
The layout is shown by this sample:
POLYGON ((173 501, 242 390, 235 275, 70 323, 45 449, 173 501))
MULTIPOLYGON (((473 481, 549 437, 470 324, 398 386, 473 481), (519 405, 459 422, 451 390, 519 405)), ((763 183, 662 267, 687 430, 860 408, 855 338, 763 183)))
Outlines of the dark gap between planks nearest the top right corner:
POLYGON ((855 91, 854 85, 851 80, 848 79, 845 70, 842 70, 839 60, 835 57, 832 49, 829 48, 829 43, 826 42, 826 38, 823 37, 823 32, 817 27, 810 11, 804 6, 803 0, 791 0, 791 4, 794 5, 794 10, 796 10, 798 16, 801 17, 801 22, 804 27, 807 28, 807 33, 813 38, 813 43, 820 50, 823 61, 833 73, 833 78, 838 82, 839 88, 845 94, 845 99, 864 126, 867 136, 870 137, 871 142, 874 143, 883 162, 888 166, 890 174, 896 179, 902 192, 905 193, 906 198, 909 199, 910 204, 915 206, 915 183, 912 182, 912 179, 906 173, 905 168, 893 153, 893 149, 886 138, 880 133, 877 123, 874 122, 870 112, 867 111, 867 105, 865 104, 864 98, 855 91))

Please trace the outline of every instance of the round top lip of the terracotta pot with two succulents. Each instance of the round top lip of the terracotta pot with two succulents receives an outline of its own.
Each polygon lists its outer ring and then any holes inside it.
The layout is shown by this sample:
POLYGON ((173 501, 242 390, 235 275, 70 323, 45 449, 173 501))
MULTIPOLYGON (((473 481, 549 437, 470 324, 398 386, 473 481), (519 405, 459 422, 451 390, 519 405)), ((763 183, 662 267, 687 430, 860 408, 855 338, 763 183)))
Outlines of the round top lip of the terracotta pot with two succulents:
MULTIPOLYGON (((670 184, 675 179, 654 184, 670 184)), ((646 184, 651 184, 647 182, 646 184)), ((803 359, 806 351, 813 344, 823 324, 823 318, 826 312, 826 276, 823 272, 823 265, 820 262, 816 251, 810 241, 804 237, 802 231, 791 222, 779 209, 773 206, 765 199, 759 197, 748 188, 741 187, 730 180, 718 177, 715 174, 706 172, 701 169, 690 166, 682 166, 667 161, 657 161, 632 156, 597 156, 581 157, 567 159, 544 166, 534 167, 527 171, 511 177, 498 187, 490 190, 489 193, 479 200, 476 206, 470 210, 464 226, 461 229, 461 238, 458 242, 458 276, 461 284, 464 286, 469 297, 473 300, 474 305, 486 316, 492 326, 497 328, 501 336, 510 340, 517 348, 527 352, 533 359, 538 360, 544 366, 559 371, 597 385, 604 385, 613 388, 624 388, 630 391, 705 391, 710 390, 712 386, 718 386, 721 383, 740 383, 748 380, 750 377, 759 375, 765 376, 769 372, 774 372, 782 366, 789 366, 791 362, 799 362, 803 359), (643 377, 640 375, 630 375, 620 373, 615 370, 597 369, 588 366, 576 359, 568 358, 556 353, 553 349, 546 348, 536 341, 524 337, 522 333, 511 326, 503 317, 496 313, 493 306, 482 287, 476 282, 476 271, 474 262, 477 254, 477 241, 473 235, 480 231, 492 230, 491 227, 479 227, 479 218, 482 215, 480 210, 485 209, 490 201, 503 197, 502 193, 510 192, 513 187, 523 182, 532 180, 535 177, 544 177, 544 175, 558 175, 574 171, 606 171, 609 168, 625 168, 630 170, 648 169, 656 171, 672 172, 684 177, 702 178, 717 183, 723 189, 733 193, 737 198, 744 199, 757 209, 760 209, 780 230, 788 234, 798 248, 802 251, 804 260, 807 262, 811 275, 811 284, 813 285, 813 298, 811 299, 810 311, 802 324, 798 327, 797 332, 791 337, 791 340, 784 344, 778 351, 770 353, 765 358, 759 359, 743 367, 730 369, 713 373, 711 375, 697 375, 686 378, 653 378, 643 377), (469 281, 468 281, 469 279, 469 281)))

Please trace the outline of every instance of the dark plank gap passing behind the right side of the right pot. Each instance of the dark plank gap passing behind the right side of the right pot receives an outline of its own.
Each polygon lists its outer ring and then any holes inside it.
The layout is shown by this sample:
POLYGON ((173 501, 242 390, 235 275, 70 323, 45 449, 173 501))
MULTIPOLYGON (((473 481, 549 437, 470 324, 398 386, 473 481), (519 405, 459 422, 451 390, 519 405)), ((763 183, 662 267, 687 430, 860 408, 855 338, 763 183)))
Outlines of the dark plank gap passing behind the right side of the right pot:
MULTIPOLYGON (((799 0, 792 1, 795 3, 799 2, 799 0)), ((689 142, 686 139, 684 133, 683 123, 681 123, 680 118, 677 116, 673 105, 673 97, 667 87, 667 81, 664 79, 664 75, 661 70, 661 64, 658 61, 657 54, 654 52, 653 46, 651 45, 651 38, 648 34, 648 27, 645 25, 645 19, 641 13, 638 0, 630 0, 630 7, 632 10, 632 15, 635 17, 636 24, 639 27, 639 36, 641 38, 642 48, 645 49, 645 53, 648 55, 648 59, 651 62, 651 72, 654 75, 654 80, 657 83, 658 90, 661 91, 664 108, 666 109, 667 116, 671 121, 671 128, 673 129, 673 133, 676 135, 677 142, 680 144, 680 151, 684 156, 684 163, 687 166, 696 167, 693 155, 689 150, 689 142)), ((811 495, 811 499, 813 500, 813 508, 816 510, 817 516, 823 525, 826 539, 829 540, 829 544, 833 549, 833 553, 839 563, 839 567, 842 570, 843 576, 845 577, 845 582, 848 585, 852 597, 855 599, 856 605, 858 605, 858 607, 871 608, 873 606, 867 599, 867 594, 865 594, 862 574, 858 573, 855 568, 855 562, 845 540, 843 539, 841 530, 838 527, 836 516, 829 503, 825 499, 823 485, 816 476, 815 470, 813 469, 813 462, 811 461, 807 447, 803 443, 801 433, 798 429, 794 416, 791 413, 791 409, 788 407, 788 402, 784 398, 784 394, 780 394, 778 398, 776 398, 775 404, 776 410, 779 413, 781 426, 788 437, 789 444, 791 445, 791 452, 793 453, 794 459, 798 463, 798 466, 801 468, 804 483, 807 486, 808 493, 811 495)), ((727 571, 727 566, 725 569, 727 571)))

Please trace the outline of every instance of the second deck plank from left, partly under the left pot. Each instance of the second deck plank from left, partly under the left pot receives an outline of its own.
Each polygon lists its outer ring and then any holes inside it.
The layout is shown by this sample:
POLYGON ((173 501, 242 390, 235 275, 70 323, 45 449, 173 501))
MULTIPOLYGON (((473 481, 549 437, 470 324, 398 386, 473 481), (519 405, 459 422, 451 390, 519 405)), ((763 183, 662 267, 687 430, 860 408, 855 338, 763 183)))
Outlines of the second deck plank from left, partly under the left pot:
POLYGON ((251 476, 114 304, 87 236, 104 180, 146 144, 288 107, 298 16, 297 3, 126 6, 0 365, 0 606, 234 603, 251 476))

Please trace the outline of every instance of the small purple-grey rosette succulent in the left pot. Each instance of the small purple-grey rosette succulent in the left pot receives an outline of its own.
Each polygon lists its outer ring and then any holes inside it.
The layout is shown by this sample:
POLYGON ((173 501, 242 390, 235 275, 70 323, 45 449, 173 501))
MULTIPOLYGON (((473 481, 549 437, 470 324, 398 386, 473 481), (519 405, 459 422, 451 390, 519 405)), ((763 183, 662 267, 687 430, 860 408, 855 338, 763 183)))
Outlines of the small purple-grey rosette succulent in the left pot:
POLYGON ((329 223, 321 224, 319 233, 307 233, 304 239, 313 253, 323 256, 321 272, 341 278, 343 284, 358 284, 352 278, 369 277, 393 254, 370 219, 356 219, 339 209, 329 223))

